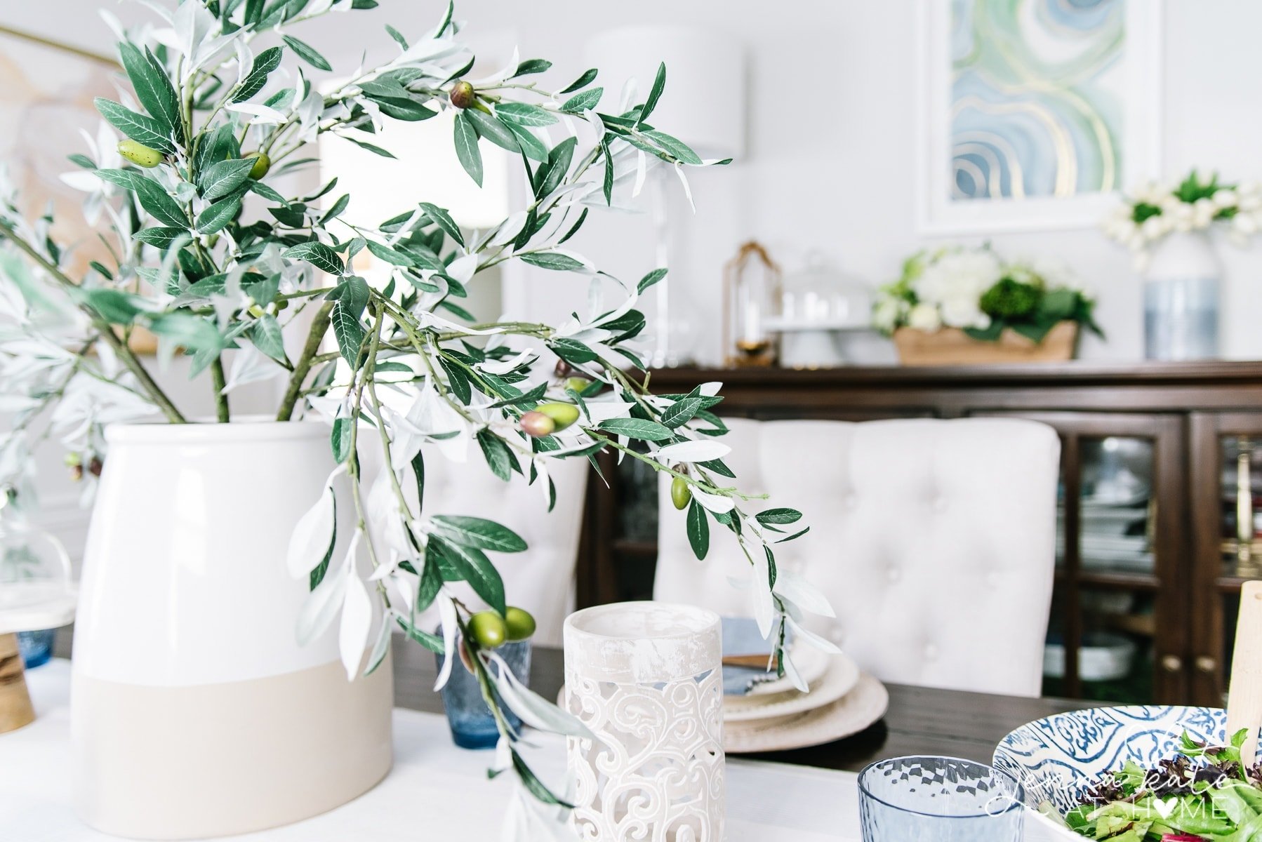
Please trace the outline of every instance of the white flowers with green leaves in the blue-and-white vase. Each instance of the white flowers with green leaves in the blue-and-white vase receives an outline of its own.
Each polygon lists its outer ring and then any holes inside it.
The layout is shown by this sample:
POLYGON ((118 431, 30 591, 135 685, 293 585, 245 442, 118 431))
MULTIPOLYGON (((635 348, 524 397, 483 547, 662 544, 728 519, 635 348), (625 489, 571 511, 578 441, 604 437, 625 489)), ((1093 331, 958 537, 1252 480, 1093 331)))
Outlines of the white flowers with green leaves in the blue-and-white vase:
POLYGON ((1147 264, 1148 250, 1171 234, 1220 226, 1235 245, 1262 228, 1262 183, 1219 184, 1218 174, 1201 182, 1196 170, 1179 184, 1148 182, 1104 220, 1104 234, 1131 250, 1136 265, 1147 264))

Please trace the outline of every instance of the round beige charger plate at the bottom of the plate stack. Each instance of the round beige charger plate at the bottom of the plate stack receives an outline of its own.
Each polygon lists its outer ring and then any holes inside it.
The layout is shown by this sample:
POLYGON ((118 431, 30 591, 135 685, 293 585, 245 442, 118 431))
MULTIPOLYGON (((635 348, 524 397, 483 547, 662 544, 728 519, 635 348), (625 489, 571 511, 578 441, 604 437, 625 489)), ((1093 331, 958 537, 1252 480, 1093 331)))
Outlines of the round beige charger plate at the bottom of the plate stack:
POLYGON ((854 689, 832 704, 774 720, 724 722, 723 750, 736 755, 823 745, 858 733, 888 706, 885 684, 863 673, 854 689))

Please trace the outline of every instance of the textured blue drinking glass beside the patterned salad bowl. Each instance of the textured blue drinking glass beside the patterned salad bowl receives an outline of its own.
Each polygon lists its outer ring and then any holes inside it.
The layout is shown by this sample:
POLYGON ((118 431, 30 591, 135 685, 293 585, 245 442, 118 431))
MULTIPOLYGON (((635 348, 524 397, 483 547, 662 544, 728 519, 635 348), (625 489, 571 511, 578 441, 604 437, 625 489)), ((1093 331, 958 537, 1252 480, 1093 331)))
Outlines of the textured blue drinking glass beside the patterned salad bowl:
POLYGON ((1021 784, 958 757, 893 757, 859 773, 863 842, 1021 842, 1021 784))

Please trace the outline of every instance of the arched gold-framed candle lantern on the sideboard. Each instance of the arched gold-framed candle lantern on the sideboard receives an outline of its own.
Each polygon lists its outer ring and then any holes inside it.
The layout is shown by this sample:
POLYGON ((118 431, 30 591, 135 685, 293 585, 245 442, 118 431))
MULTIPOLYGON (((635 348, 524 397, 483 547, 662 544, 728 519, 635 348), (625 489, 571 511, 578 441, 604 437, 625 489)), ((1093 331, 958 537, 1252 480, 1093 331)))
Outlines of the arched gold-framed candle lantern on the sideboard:
POLYGON ((770 321, 780 312, 780 266, 755 241, 723 268, 723 353, 736 367, 775 365, 770 321))

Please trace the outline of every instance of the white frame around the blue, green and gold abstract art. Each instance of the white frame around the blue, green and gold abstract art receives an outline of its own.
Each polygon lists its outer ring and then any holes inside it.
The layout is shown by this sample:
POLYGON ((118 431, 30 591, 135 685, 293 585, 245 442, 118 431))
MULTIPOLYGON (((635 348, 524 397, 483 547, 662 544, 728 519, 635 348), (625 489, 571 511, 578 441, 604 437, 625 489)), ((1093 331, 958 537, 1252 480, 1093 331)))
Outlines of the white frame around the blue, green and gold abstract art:
POLYGON ((916 227, 921 235, 1093 227, 1117 203, 1119 189, 1161 177, 1161 4, 1122 1, 1126 96, 1121 149, 1126 163, 1117 189, 1069 197, 953 199, 953 0, 916 0, 916 227))

